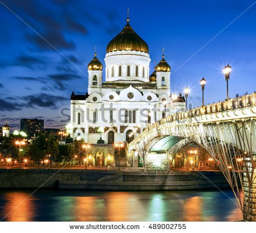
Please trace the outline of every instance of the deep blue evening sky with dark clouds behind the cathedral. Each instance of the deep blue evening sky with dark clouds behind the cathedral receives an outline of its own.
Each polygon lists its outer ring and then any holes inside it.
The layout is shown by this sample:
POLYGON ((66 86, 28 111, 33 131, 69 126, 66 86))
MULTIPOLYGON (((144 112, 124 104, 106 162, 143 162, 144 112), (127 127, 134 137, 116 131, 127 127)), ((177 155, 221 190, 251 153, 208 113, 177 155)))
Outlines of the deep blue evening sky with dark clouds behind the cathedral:
POLYGON ((205 104, 225 99, 228 63, 229 96, 255 91, 255 1, 1 0, 0 125, 6 118, 12 130, 20 118, 44 119, 45 128, 65 125, 72 91, 87 91, 94 47, 104 64, 127 7, 131 27, 148 44, 150 73, 164 47, 171 93, 188 86, 192 107, 201 106, 203 77, 205 104))

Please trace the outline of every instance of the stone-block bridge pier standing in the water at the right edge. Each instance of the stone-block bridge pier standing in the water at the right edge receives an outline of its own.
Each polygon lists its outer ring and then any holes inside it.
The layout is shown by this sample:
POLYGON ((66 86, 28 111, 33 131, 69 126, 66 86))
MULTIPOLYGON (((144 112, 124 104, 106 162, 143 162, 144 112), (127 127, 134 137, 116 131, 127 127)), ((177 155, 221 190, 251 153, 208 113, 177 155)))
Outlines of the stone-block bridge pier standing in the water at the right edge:
POLYGON ((253 176, 251 176, 251 163, 249 163, 250 178, 243 173, 243 220, 255 222, 256 221, 256 169, 254 169, 253 176))

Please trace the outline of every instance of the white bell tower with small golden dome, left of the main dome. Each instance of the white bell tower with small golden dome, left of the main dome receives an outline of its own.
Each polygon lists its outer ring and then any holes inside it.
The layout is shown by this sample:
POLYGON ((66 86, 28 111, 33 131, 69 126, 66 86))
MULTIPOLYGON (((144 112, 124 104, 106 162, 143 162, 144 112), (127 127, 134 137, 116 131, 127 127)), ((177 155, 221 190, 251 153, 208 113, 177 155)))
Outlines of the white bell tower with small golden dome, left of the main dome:
POLYGON ((94 53, 94 58, 88 64, 88 74, 89 74, 89 86, 88 94, 91 93, 92 88, 100 88, 102 84, 102 64, 97 59, 97 53, 94 53))

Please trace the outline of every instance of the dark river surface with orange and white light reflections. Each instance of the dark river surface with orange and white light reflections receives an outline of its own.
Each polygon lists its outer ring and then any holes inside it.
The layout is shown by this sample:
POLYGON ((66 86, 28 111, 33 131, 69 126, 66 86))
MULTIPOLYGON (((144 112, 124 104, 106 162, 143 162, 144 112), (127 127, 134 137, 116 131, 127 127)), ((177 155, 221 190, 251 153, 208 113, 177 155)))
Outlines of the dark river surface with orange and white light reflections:
POLYGON ((5 221, 234 221, 242 219, 231 190, 105 192, 1 190, 5 221))

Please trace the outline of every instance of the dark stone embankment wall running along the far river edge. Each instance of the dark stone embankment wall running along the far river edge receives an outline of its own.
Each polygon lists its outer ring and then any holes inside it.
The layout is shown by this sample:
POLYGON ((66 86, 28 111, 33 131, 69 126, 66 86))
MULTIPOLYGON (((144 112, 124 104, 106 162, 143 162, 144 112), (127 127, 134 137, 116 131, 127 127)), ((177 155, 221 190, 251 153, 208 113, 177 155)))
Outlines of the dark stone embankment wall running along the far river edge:
POLYGON ((0 169, 1 189, 197 190, 229 188, 218 171, 0 169))

